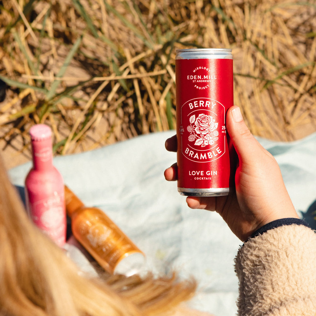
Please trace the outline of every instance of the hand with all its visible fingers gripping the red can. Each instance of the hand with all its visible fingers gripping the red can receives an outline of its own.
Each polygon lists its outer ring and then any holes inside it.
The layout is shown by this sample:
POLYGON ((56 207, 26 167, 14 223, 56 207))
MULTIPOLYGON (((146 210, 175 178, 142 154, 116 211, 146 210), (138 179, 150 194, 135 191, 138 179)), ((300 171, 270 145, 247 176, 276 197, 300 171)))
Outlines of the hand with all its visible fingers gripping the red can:
MULTIPOLYGON (((218 212, 242 241, 269 222, 298 218, 276 160, 252 136, 239 107, 228 110, 226 127, 239 159, 236 190, 228 196, 187 197, 188 206, 218 212)), ((169 151, 176 151, 176 136, 167 139, 165 146, 169 151)), ((177 164, 165 170, 165 178, 177 179, 177 164)))

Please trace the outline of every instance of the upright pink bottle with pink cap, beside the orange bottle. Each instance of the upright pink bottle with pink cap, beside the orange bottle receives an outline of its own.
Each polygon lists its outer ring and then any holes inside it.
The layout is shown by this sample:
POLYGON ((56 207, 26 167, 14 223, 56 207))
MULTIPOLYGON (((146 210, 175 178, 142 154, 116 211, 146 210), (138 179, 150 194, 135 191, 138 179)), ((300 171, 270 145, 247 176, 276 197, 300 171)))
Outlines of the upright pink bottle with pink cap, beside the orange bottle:
POLYGON ((30 129, 33 167, 25 179, 27 211, 44 233, 58 246, 66 241, 64 180, 53 166, 52 130, 44 124, 30 129))

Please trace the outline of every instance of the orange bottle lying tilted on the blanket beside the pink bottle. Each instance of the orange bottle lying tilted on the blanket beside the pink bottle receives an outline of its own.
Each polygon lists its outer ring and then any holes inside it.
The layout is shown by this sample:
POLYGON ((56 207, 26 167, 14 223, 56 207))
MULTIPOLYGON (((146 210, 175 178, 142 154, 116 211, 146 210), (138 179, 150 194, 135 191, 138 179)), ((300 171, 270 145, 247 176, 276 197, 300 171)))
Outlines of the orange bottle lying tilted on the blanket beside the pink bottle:
POLYGON ((145 262, 143 252, 102 210, 86 207, 67 186, 65 202, 72 234, 101 267, 109 273, 141 272, 145 262))

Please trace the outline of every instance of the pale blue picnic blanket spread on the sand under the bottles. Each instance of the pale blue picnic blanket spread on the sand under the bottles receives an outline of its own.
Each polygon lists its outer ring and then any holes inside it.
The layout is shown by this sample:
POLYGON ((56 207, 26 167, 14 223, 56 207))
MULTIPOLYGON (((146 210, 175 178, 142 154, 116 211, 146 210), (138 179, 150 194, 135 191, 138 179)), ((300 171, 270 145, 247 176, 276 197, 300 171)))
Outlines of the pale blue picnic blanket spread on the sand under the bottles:
MULTIPOLYGON (((141 248, 155 273, 194 276, 199 289, 191 307, 217 316, 234 316, 238 281, 234 257, 242 244, 213 212, 191 210, 163 172, 176 161, 165 140, 174 131, 139 136, 76 155, 54 165, 65 184, 88 206, 97 206, 141 248)), ((315 229, 316 133, 291 143, 258 139, 278 161, 296 210, 315 229)), ((9 171, 24 186, 31 164, 9 171)), ((267 172, 269 172, 267 170, 267 172)))

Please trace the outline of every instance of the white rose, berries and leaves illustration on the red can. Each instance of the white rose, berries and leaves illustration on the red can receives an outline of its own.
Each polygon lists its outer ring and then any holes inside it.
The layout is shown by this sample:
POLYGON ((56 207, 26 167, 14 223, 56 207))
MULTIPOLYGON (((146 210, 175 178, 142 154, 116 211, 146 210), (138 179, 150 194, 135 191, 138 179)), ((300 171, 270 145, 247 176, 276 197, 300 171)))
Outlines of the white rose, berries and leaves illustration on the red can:
POLYGON ((187 126, 187 131, 190 133, 188 140, 194 142, 194 145, 205 147, 213 145, 218 140, 218 123, 212 116, 200 114, 197 118, 195 114, 190 116, 190 125, 187 126))

